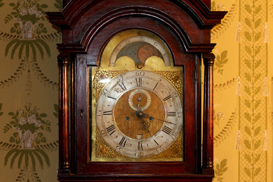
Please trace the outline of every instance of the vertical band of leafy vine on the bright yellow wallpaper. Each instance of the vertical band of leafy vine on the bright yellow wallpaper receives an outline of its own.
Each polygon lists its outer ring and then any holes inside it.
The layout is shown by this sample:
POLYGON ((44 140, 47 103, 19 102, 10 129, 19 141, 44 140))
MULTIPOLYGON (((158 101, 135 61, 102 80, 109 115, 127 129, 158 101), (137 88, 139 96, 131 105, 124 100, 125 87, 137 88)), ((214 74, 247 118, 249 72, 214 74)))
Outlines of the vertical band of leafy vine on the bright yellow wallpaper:
MULTIPOLYGON (((262 149, 262 127, 264 127, 262 86, 256 84, 263 79, 265 71, 263 55, 265 45, 262 38, 262 18, 264 3, 262 1, 242 1, 242 22, 245 26, 242 42, 242 79, 244 80, 244 96, 241 98, 241 121, 245 137, 243 139, 244 151, 241 153, 242 181, 266 181, 262 172, 265 155, 262 149)), ((266 60, 266 59, 265 59, 266 60)), ((240 170, 240 169, 239 169, 240 170)), ((265 171, 266 172, 266 171, 265 171)))

